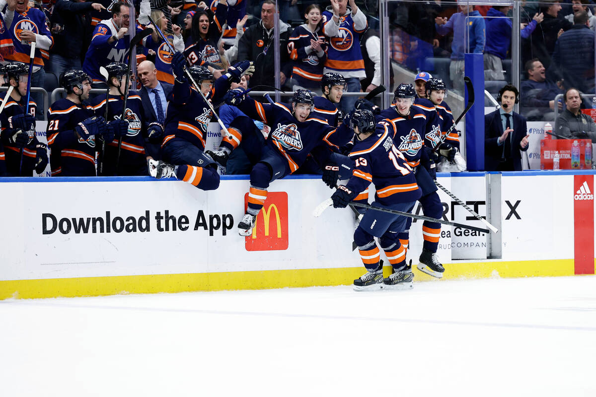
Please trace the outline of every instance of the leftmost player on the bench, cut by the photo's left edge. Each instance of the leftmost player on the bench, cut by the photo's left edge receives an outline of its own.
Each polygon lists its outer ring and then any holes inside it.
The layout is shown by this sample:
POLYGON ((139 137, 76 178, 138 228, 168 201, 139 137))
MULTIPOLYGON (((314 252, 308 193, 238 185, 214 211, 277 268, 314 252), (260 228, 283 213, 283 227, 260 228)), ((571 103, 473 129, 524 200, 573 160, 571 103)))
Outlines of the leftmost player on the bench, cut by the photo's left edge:
POLYGON ((27 107, 24 104, 29 66, 22 62, 9 62, 4 70, 8 83, 14 87, 0 114, 7 175, 33 176, 33 170, 41 174, 48 165, 48 151, 35 136, 35 102, 29 100, 27 107))

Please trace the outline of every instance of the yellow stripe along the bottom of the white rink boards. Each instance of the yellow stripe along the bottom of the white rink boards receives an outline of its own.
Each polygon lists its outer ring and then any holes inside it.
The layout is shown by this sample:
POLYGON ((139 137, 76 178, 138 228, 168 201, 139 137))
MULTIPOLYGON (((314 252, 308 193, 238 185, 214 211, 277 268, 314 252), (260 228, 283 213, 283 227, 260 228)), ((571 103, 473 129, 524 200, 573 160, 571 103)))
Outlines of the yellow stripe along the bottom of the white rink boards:
MULTIPOLYGON (((436 280, 412 264, 415 281, 436 280)), ((455 262, 445 264, 445 279, 572 276, 573 260, 455 262)), ((234 271, 225 273, 155 274, 144 276, 77 277, 73 279, 0 281, 0 299, 98 296, 123 293, 188 292, 351 285, 364 267, 234 271)), ((384 267, 385 277, 390 267, 384 267)))

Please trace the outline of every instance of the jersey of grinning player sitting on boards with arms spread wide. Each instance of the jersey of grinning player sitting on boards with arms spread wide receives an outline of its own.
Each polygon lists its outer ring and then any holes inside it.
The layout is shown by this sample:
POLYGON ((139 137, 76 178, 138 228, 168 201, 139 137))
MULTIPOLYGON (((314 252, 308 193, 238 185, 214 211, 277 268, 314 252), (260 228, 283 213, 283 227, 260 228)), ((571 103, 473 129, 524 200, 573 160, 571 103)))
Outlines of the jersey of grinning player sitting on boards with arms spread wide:
POLYGON ((291 173, 305 162, 306 157, 322 142, 339 149, 353 136, 346 126, 331 127, 325 121, 309 117, 300 122, 290 109, 282 104, 261 104, 247 96, 238 108, 250 118, 271 126, 267 145, 288 161, 291 173))

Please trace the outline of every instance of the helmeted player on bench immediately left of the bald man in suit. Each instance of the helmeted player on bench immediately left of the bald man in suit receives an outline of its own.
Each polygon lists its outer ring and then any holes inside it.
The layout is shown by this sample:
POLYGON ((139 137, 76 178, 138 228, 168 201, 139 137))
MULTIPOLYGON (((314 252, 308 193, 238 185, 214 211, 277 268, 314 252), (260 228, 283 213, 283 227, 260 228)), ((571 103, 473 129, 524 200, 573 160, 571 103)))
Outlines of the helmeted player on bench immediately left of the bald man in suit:
MULTIPOLYGON (((126 72, 125 64, 112 62, 106 65, 108 71, 109 105, 107 121, 117 120, 122 117, 123 98, 125 95, 126 72)), ((98 95, 92 101, 95 114, 105 117, 105 96, 98 95)), ((120 147, 120 160, 118 160, 118 141, 120 136, 114 136, 114 140, 107 142, 105 152, 100 155, 100 162, 103 163, 103 176, 148 176, 147 158, 145 153, 145 137, 150 143, 159 143, 163 139, 163 126, 156 121, 148 120, 141 97, 134 91, 129 91, 126 99, 126 110, 124 120, 128 123, 128 129, 122 136, 120 147), (118 164, 118 170, 116 170, 118 164)), ((98 169, 99 170, 99 169, 98 169)))

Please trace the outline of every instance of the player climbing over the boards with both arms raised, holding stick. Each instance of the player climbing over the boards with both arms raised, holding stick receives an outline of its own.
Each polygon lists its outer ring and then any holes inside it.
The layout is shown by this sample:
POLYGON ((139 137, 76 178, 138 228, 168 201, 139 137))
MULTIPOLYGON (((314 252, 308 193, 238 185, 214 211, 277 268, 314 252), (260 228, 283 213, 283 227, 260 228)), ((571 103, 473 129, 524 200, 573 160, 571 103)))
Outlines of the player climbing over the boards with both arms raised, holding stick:
MULTIPOLYGON (((172 57, 176 80, 168 96, 166 136, 162 143, 164 161, 149 160, 149 173, 156 178, 176 177, 201 190, 214 190, 219 186, 218 165, 204 153, 207 126, 213 113, 203 96, 188 82, 184 74, 185 62, 181 52, 172 57)), ((214 103, 221 100, 232 82, 240 82, 240 77, 252 70, 252 62, 239 62, 215 80, 214 86, 213 74, 207 67, 192 65, 188 68, 203 95, 214 103)))

